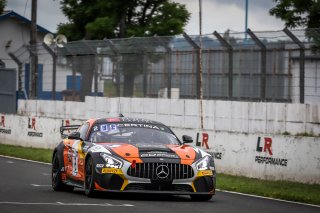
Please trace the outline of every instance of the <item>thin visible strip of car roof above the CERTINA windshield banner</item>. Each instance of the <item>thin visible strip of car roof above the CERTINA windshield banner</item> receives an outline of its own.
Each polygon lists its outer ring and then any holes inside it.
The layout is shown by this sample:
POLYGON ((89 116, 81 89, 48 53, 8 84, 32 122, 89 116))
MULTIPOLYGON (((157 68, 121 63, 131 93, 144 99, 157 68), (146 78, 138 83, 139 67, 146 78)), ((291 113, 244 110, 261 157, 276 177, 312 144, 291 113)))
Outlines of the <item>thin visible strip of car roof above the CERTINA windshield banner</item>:
MULTIPOLYGON (((92 119, 90 119, 92 120, 92 119)), ((163 123, 144 119, 144 118, 130 118, 130 117, 110 117, 110 118, 97 118, 94 119, 96 124, 102 123, 139 123, 139 124, 157 124, 164 125, 163 123)))

